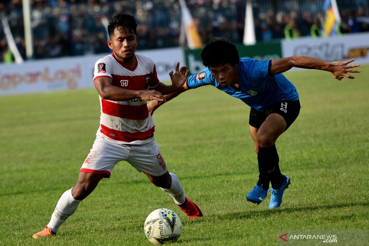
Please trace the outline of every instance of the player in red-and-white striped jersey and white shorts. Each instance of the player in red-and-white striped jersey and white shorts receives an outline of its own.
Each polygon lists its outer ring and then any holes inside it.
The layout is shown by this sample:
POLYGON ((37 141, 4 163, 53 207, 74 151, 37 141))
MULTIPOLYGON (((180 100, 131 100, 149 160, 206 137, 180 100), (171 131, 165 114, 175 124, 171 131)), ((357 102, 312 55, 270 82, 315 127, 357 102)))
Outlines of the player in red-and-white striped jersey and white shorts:
POLYGON ((113 50, 99 59, 94 69, 94 85, 101 105, 100 127, 96 140, 83 163, 77 183, 65 191, 45 229, 33 238, 53 236, 61 224, 72 215, 103 178, 110 177, 115 164, 124 160, 143 172, 155 186, 166 191, 186 215, 202 217, 200 208, 183 193, 173 173, 169 173, 154 139, 155 123, 148 112, 146 101, 165 100, 186 82, 189 71, 177 63, 169 73, 172 85, 158 80, 154 61, 135 54, 138 44, 135 18, 117 14, 109 22, 107 44, 113 50))

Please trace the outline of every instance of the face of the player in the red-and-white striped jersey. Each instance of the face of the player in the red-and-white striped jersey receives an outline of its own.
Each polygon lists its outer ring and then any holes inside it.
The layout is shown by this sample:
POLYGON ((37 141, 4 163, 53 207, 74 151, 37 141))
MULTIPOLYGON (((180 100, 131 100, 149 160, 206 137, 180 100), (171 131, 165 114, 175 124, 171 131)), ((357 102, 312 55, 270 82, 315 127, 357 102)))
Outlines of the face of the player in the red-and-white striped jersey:
POLYGON ((114 56, 123 63, 134 59, 134 53, 138 44, 138 37, 131 33, 127 27, 115 28, 114 36, 107 41, 110 49, 113 49, 114 56))

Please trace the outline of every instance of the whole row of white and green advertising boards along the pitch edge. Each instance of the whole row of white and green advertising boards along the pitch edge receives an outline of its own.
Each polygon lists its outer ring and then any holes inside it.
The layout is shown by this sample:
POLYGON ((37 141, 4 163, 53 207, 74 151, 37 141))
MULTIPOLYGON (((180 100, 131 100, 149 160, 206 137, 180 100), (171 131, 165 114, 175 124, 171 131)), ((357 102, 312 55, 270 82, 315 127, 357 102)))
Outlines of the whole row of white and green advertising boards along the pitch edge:
MULTIPOLYGON (((330 62, 355 59, 355 63, 365 65, 369 64, 369 33, 331 38, 299 38, 250 46, 237 45, 237 49, 240 57, 259 60, 303 55, 330 62)), ((158 78, 163 82, 170 80, 168 74, 175 69, 177 62, 187 65, 192 74, 204 69, 200 52, 201 49, 183 50, 181 48, 137 51, 154 60, 158 78)), ((93 87, 94 64, 104 55, 36 60, 20 65, 0 65, 0 96, 93 87)))

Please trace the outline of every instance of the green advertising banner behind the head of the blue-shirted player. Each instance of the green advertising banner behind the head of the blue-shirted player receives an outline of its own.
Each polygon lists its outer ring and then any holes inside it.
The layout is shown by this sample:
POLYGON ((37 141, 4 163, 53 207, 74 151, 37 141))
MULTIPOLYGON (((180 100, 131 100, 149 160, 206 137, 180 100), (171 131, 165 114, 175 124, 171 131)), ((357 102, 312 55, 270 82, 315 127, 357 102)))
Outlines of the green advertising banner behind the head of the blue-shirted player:
MULTIPOLYGON (((270 60, 282 58, 282 49, 280 42, 264 43, 256 45, 236 45, 239 57, 250 57, 257 60, 270 60)), ((184 59, 187 69, 191 74, 198 73, 204 69, 200 57, 202 49, 185 49, 184 59)))

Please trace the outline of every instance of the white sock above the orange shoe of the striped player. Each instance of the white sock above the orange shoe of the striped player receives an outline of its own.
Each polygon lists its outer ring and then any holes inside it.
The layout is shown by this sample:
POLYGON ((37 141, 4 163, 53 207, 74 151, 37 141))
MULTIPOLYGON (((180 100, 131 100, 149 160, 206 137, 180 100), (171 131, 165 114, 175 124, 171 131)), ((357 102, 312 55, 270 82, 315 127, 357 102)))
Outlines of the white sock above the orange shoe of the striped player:
POLYGON ((73 198, 72 188, 63 193, 56 204, 54 213, 51 215, 50 222, 47 226, 53 232, 58 232, 61 224, 77 210, 80 200, 73 198))

